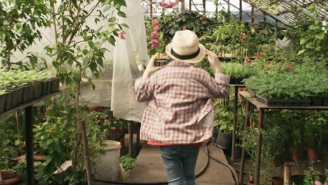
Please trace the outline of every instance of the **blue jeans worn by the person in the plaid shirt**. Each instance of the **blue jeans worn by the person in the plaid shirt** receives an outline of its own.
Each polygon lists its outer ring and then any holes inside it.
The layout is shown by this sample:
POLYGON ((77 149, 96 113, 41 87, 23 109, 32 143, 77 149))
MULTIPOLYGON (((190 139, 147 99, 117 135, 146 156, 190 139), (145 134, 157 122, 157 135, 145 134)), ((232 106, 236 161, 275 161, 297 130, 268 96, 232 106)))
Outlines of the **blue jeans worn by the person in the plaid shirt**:
POLYGON ((169 185, 194 185, 199 146, 160 146, 169 185))

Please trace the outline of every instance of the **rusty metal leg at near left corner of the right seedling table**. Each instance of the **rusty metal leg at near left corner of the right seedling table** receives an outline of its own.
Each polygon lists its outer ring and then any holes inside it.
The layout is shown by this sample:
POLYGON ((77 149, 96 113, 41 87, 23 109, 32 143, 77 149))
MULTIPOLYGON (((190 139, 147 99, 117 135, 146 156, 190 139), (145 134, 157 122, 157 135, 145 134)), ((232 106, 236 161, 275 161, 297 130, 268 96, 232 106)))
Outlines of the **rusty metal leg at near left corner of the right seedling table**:
POLYGON ((259 109, 259 135, 257 135, 257 158, 255 163, 255 185, 259 185, 259 172, 261 167, 262 125, 264 109, 259 109))

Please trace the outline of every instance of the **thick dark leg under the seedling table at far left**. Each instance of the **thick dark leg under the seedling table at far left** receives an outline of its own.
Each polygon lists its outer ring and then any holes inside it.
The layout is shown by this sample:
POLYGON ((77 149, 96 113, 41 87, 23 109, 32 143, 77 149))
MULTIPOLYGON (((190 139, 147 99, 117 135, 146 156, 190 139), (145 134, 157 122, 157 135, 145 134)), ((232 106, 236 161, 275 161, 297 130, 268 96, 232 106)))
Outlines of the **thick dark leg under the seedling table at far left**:
POLYGON ((27 184, 34 184, 34 161, 33 161, 33 107, 25 108, 25 143, 27 163, 27 184))

